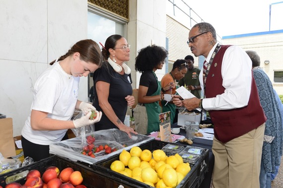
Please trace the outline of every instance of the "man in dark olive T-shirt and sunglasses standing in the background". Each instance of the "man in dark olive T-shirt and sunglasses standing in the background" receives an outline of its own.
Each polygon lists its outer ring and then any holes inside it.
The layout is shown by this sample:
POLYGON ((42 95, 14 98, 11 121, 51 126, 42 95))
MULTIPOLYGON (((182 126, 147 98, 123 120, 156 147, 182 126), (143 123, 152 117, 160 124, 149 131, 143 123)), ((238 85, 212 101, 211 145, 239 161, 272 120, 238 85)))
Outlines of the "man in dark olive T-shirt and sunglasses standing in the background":
POLYGON ((187 55, 185 57, 185 60, 187 62, 188 72, 185 74, 185 77, 179 80, 178 85, 184 86, 188 90, 191 91, 193 95, 195 95, 198 98, 201 98, 201 84, 199 80, 199 75, 201 72, 201 69, 198 69, 197 67, 194 67, 194 57, 192 55, 187 55))

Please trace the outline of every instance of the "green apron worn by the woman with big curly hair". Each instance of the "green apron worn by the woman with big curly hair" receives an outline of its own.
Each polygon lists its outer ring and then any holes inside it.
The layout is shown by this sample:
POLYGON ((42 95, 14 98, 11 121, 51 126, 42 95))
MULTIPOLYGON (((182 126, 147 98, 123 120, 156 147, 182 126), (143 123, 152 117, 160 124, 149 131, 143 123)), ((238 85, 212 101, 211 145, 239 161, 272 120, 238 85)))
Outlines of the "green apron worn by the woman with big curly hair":
MULTIPOLYGON (((155 73, 152 71, 156 78, 156 82, 158 85, 158 88, 155 93, 151 94, 151 96, 159 95, 161 92, 161 84, 158 82, 157 77, 155 73)), ((155 101, 152 103, 144 103, 146 108, 146 114, 147 114, 147 134, 153 132, 153 131, 159 131, 159 114, 160 114, 160 105, 159 101, 155 101)))

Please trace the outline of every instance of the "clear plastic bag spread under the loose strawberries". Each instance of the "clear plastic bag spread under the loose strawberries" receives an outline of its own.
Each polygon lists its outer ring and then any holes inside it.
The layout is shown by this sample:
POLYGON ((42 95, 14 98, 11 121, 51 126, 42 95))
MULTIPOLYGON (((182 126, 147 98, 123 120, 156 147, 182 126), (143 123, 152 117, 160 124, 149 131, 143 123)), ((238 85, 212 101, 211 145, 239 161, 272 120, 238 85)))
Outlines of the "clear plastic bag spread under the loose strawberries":
POLYGON ((66 141, 59 141, 50 145, 50 153, 57 154, 69 158, 72 161, 81 161, 89 164, 96 163, 100 160, 107 159, 113 155, 120 153, 122 150, 130 150, 133 146, 139 146, 142 143, 154 140, 153 137, 148 137, 145 135, 134 135, 132 134, 132 139, 129 138, 128 134, 120 131, 118 129, 107 129, 100 130, 96 132, 91 132, 85 134, 83 137, 92 135, 95 137, 94 145, 108 144, 111 148, 116 148, 117 151, 111 152, 109 154, 105 153, 105 150, 99 151, 95 154, 95 158, 91 158, 88 155, 83 155, 81 140, 82 136, 69 139, 66 141))

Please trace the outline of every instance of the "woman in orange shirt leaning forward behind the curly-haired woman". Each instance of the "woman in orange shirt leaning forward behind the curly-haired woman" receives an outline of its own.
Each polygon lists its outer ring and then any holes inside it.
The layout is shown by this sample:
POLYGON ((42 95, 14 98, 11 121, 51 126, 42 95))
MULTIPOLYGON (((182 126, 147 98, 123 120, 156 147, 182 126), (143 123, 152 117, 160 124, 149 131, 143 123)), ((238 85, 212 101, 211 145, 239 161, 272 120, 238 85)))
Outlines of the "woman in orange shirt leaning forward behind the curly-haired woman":
MULTIPOLYGON (((174 86, 172 89, 169 89, 165 91, 164 94, 176 94, 176 89, 179 88, 179 85, 177 85, 177 81, 184 78, 185 74, 188 71, 187 62, 185 59, 177 59, 174 64, 171 72, 165 74, 163 78, 161 79, 161 87, 166 87, 169 83, 174 83, 174 86)), ((162 105, 162 112, 171 112, 171 125, 173 124, 174 118, 175 118, 175 110, 176 105, 171 101, 167 104, 166 100, 161 101, 162 105)))

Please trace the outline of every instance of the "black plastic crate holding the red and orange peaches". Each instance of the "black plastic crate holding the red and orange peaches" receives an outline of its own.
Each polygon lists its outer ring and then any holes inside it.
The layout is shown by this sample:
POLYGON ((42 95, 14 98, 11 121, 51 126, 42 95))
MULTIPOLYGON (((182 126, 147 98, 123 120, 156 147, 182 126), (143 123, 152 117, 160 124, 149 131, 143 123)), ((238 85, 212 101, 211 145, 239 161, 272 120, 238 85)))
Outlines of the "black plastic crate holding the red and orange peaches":
MULTIPOLYGON (((135 185, 132 185, 129 182, 124 180, 120 180, 117 177, 107 177, 101 172, 96 172, 92 168, 79 164, 77 162, 73 162, 67 158, 60 157, 58 155, 52 155, 46 159, 41 161, 32 163, 28 166, 21 167, 19 169, 7 172, 0 176, 0 186, 3 188, 6 186, 5 180, 7 177, 16 175, 26 170, 39 170, 41 175, 44 171, 50 166, 57 166, 60 171, 64 168, 71 167, 74 171, 80 171, 83 177, 82 185, 86 186, 87 188, 118 188, 120 185, 127 185, 124 188, 133 188, 135 185)), ((26 179, 22 178, 17 180, 17 183, 23 185, 26 179)))

